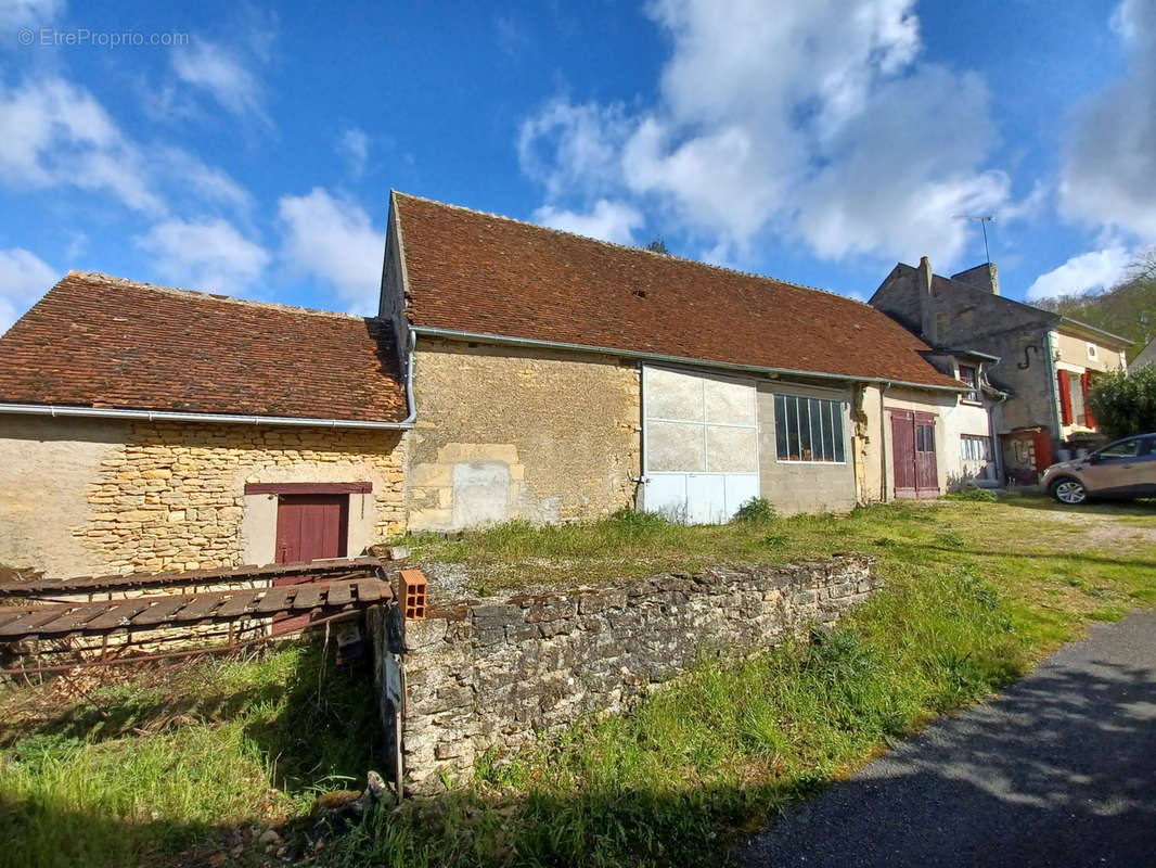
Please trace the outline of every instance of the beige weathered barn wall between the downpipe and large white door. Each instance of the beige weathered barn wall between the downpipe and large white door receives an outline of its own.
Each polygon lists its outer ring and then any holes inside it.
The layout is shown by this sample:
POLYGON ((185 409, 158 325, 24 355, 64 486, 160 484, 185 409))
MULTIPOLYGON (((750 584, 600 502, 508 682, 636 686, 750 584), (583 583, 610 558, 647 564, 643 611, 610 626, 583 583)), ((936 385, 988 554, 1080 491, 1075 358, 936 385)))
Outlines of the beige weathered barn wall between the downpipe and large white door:
POLYGON ((428 338, 414 363, 410 529, 595 518, 633 506, 636 365, 428 338))

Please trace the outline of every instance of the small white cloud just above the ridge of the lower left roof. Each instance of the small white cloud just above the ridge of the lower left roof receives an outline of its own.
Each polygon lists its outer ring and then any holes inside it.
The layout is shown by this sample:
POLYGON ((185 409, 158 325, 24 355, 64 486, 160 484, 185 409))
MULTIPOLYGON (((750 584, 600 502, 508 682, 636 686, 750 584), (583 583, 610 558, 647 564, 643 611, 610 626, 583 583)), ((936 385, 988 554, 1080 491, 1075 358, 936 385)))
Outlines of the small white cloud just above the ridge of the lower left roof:
POLYGON ((265 249, 225 220, 166 220, 134 238, 162 278, 177 286, 242 295, 269 262, 265 249))

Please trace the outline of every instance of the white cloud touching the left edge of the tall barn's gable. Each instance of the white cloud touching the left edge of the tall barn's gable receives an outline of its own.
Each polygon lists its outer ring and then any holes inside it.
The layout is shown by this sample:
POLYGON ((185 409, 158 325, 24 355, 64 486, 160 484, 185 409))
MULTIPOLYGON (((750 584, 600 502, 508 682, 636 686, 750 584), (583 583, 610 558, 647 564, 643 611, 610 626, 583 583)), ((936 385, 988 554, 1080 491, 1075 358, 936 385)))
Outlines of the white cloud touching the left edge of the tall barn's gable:
POLYGON ((282 257, 289 269, 329 284, 350 312, 372 314, 381 286, 385 233, 365 209, 324 187, 277 203, 284 223, 282 257))

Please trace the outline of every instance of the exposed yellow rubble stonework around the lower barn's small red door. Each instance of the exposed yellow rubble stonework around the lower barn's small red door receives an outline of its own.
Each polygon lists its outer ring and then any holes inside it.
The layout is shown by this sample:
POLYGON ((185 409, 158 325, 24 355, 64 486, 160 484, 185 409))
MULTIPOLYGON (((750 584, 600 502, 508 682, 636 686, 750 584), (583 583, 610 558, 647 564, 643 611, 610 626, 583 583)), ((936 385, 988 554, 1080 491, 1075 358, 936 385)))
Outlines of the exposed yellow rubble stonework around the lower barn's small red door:
POLYGON ((99 462, 88 517, 71 532, 112 573, 229 567, 245 554, 269 562, 272 539, 266 558, 245 551, 245 483, 368 480, 363 521, 379 542, 405 529, 400 443, 397 431, 132 425, 99 462))

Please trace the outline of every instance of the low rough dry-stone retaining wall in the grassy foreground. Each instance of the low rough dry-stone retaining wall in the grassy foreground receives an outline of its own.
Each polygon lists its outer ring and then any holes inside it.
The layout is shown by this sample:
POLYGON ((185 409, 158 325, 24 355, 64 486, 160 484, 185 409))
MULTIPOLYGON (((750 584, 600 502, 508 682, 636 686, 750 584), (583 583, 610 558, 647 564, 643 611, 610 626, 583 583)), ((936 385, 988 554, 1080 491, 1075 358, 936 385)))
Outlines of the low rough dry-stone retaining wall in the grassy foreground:
POLYGON ((701 654, 742 654, 831 624, 877 584, 873 559, 836 556, 472 601, 409 621, 410 785, 433 790, 488 749, 514 750, 586 713, 620 711, 701 654))

